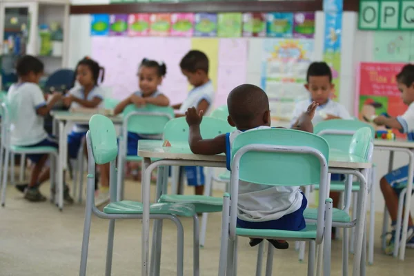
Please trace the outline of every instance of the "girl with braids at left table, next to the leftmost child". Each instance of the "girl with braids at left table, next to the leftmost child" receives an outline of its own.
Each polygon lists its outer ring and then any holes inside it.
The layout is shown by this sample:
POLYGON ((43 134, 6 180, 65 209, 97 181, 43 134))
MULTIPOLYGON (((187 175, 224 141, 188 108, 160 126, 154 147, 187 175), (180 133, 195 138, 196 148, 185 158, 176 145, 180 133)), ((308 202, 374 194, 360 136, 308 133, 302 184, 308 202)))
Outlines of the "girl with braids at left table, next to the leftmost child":
MULTIPOLYGON (((103 104, 103 95, 105 92, 98 86, 99 75, 102 71, 101 81, 103 81, 104 70, 96 61, 85 57, 76 66, 75 78, 80 86, 75 86, 69 90, 68 95, 63 98, 63 103, 69 108, 99 108, 103 104)), ((74 80, 75 81, 75 80, 74 80)), ((88 125, 76 124, 72 132, 68 135, 68 155, 70 159, 77 159, 79 148, 83 137, 88 132, 88 125)), ((84 147, 87 155, 86 146, 84 147)), ((95 186, 95 190, 97 187, 95 186)), ((109 199, 108 185, 102 184, 100 191, 95 193, 95 202, 105 202, 109 199)))

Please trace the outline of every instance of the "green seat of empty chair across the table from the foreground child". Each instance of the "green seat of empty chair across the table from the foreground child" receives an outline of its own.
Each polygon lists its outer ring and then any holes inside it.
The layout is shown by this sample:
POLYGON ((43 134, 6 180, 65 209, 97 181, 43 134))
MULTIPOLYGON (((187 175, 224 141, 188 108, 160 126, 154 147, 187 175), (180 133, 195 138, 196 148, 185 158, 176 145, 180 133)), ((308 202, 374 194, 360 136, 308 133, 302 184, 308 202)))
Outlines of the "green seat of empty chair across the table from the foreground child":
POLYGON ((196 213, 215 213, 223 210, 222 197, 208 197, 205 195, 161 195, 159 202, 193 204, 196 213))

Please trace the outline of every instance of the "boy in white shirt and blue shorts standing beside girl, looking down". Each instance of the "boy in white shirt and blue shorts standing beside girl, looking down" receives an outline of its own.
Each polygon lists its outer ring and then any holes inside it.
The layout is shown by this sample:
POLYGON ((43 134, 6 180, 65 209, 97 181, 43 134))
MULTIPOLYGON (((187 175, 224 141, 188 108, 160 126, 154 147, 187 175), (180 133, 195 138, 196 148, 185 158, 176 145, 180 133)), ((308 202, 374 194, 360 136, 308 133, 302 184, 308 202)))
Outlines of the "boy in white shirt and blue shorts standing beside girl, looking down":
MULTIPOLYGON (((181 72, 187 77, 188 82, 194 86, 188 93, 188 97, 183 103, 179 103, 172 108, 179 109, 176 117, 184 116, 188 108, 195 107, 197 112, 208 114, 213 103, 214 87, 208 78, 208 57, 204 52, 190 50, 179 63, 181 72)), ((187 182, 190 186, 195 186, 195 194, 204 194, 204 171, 202 167, 184 167, 187 175, 187 182)))

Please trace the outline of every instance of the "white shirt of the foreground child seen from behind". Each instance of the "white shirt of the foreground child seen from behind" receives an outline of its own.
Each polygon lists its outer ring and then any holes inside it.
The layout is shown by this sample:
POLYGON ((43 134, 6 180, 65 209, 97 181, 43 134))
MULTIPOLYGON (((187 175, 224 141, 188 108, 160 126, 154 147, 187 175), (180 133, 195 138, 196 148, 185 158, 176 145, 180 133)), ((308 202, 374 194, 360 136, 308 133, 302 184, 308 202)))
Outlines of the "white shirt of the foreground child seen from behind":
MULTIPOLYGON (((251 130, 268 128, 270 127, 259 126, 251 130)), ((243 133, 241 130, 235 130, 226 135, 226 156, 228 163, 230 163, 233 141, 241 133, 243 133)), ((277 177, 277 174, 275 174, 275 177, 277 177)), ((252 222, 280 219, 284 215, 298 210, 302 206, 302 200, 303 195, 299 186, 268 186, 239 180, 237 217, 244 221, 252 222)))

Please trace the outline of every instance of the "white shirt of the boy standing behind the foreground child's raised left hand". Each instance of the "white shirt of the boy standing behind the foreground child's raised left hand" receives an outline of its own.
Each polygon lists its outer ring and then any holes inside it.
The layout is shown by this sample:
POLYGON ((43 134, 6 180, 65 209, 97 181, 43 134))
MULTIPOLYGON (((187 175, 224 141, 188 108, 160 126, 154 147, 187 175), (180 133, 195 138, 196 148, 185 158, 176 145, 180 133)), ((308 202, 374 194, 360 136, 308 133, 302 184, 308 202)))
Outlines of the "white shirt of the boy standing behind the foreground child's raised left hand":
POLYGON ((199 105, 202 100, 206 100, 209 103, 208 109, 204 110, 204 115, 208 115, 211 107, 213 106, 213 98, 214 98, 214 86, 211 81, 204 83, 202 86, 198 86, 193 88, 188 93, 187 98, 181 104, 181 108, 179 108, 179 113, 184 114, 188 108, 195 107, 199 105))

